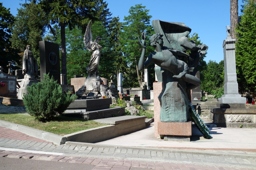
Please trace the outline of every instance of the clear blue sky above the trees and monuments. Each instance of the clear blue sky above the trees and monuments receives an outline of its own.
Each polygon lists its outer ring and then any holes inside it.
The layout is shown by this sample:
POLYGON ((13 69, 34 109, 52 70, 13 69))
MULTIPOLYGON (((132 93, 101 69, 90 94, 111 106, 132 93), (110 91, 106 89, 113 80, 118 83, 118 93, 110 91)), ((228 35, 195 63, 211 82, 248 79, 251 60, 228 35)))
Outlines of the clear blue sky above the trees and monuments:
MULTIPOLYGON (((10 8, 12 15, 16 16, 19 3, 25 0, 0 0, 3 6, 10 8)), ((230 0, 106 0, 112 16, 119 16, 123 21, 129 15, 129 9, 136 4, 146 6, 150 10, 152 20, 168 22, 183 22, 192 29, 191 33, 198 33, 200 40, 209 48, 205 61, 223 60, 223 40, 226 39, 226 26, 230 25, 230 0)), ((239 15, 242 0, 238 0, 239 15)))

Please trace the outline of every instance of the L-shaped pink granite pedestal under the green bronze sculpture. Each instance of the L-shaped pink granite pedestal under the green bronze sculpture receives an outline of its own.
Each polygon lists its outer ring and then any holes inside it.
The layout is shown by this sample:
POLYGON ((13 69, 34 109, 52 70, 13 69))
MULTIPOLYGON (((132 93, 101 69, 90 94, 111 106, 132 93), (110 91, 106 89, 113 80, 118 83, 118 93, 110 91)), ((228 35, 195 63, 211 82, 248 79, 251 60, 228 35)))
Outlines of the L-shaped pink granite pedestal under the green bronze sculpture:
POLYGON ((154 122, 155 138, 164 138, 167 140, 190 141, 192 135, 191 122, 161 122, 161 105, 158 99, 162 92, 162 82, 153 83, 154 89, 154 122))

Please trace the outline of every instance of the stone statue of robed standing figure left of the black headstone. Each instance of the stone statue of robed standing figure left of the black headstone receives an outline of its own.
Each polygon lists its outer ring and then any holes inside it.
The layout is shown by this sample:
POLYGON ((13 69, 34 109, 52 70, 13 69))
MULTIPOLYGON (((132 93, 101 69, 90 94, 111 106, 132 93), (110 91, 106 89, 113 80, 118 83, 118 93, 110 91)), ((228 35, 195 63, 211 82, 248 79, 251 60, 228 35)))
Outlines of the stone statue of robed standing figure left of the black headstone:
POLYGON ((24 74, 25 79, 29 78, 36 80, 38 65, 30 48, 31 46, 27 45, 27 48, 24 51, 22 74, 24 74))

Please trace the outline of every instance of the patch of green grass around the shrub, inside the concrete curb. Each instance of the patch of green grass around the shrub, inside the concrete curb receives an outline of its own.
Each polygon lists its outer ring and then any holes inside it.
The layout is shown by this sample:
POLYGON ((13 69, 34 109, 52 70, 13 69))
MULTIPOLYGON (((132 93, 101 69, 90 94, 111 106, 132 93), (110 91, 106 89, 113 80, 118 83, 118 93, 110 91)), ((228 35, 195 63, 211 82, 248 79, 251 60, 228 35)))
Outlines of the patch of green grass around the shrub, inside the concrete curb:
POLYGON ((50 122, 40 122, 35 120, 32 116, 24 114, 0 114, 0 120, 17 123, 57 135, 67 135, 78 131, 108 125, 92 120, 87 121, 82 118, 65 116, 56 116, 54 120, 50 122))

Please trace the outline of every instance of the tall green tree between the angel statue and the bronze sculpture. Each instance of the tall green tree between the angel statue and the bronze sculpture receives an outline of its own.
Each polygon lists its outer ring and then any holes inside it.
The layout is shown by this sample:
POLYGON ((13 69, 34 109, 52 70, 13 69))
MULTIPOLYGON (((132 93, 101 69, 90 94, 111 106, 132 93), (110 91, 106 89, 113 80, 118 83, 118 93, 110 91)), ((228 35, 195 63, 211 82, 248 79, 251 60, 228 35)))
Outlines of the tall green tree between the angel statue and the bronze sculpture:
MULTIPOLYGON (((138 36, 144 31, 148 36, 153 34, 153 28, 150 24, 151 15, 148 15, 149 10, 145 9, 142 4, 135 5, 129 10, 129 16, 124 16, 123 32, 121 34, 122 51, 128 61, 128 75, 123 75, 126 79, 123 86, 136 87, 140 86, 143 79, 143 72, 138 71, 138 61, 142 52, 141 45, 138 41, 138 36), (136 75, 137 73, 137 75, 136 75), (129 76, 129 77, 128 77, 129 76), (128 80, 131 79, 131 80, 128 80), (136 83, 134 80, 138 80, 136 83), (126 83, 128 83, 126 85, 126 83)), ((154 49, 150 46, 149 37, 147 37, 146 54, 151 53, 154 49)), ((146 57, 146 56, 145 56, 146 57)), ((150 69, 151 70, 151 69, 150 69)))

